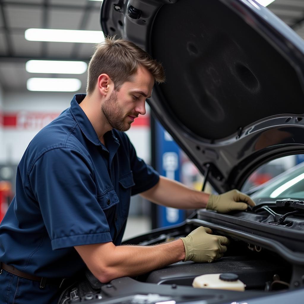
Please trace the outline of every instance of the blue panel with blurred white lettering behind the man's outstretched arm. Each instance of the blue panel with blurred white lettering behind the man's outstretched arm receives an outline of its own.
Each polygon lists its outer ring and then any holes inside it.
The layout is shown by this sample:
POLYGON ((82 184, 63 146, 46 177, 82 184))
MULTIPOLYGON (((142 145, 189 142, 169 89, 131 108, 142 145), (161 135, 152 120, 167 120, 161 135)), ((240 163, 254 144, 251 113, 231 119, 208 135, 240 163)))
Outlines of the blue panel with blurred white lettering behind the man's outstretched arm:
MULTIPOLYGON (((155 122, 156 170, 167 178, 180 181, 180 149, 163 126, 155 122)), ((157 206, 157 227, 170 226, 185 220, 185 211, 157 206)))

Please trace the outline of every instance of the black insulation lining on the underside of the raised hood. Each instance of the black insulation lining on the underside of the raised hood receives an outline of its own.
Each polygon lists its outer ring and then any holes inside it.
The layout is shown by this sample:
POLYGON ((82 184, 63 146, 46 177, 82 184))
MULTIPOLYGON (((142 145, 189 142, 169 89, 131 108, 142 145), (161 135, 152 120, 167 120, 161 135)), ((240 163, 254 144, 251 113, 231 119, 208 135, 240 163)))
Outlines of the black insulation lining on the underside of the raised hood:
POLYGON ((265 117, 304 113, 294 68, 220 1, 163 5, 150 49, 166 70, 167 107, 196 136, 218 140, 265 117))

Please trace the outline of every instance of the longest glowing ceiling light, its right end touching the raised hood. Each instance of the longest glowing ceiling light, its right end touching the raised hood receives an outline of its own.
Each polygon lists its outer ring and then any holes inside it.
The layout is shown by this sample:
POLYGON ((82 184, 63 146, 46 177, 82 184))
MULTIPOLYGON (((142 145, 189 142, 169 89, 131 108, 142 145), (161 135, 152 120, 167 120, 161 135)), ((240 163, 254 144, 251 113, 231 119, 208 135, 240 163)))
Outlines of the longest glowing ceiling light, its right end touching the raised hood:
POLYGON ((99 43, 105 41, 102 31, 74 29, 27 29, 24 33, 29 41, 99 43))

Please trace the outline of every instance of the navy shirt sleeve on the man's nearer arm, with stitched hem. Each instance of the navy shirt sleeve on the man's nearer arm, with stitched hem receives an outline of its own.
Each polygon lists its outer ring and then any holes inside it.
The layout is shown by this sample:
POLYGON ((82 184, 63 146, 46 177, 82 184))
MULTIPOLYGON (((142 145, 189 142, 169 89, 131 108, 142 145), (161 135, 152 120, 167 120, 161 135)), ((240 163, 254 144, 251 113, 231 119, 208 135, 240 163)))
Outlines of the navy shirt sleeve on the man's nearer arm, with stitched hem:
POLYGON ((53 250, 112 241, 88 157, 72 147, 50 149, 28 178, 53 250))

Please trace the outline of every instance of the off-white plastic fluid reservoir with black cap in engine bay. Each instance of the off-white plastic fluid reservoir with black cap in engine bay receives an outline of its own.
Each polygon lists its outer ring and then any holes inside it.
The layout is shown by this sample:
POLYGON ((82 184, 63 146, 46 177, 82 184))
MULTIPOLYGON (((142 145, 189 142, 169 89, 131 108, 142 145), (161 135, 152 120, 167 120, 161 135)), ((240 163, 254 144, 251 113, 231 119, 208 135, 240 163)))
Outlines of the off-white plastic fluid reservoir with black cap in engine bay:
POLYGON ((214 288, 244 291, 246 285, 239 280, 239 276, 234 273, 217 273, 200 275, 192 283, 195 288, 214 288))

